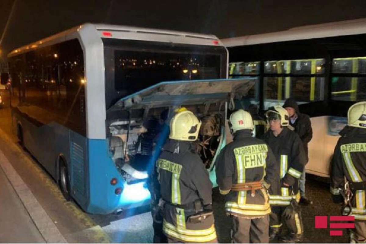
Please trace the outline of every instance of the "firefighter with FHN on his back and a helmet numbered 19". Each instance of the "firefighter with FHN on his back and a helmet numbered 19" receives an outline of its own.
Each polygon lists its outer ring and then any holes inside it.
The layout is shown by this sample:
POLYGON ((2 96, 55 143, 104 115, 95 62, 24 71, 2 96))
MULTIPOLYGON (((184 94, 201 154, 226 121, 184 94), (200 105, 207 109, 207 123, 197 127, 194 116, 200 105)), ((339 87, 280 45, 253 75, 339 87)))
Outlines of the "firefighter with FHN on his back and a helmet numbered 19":
POLYGON ((270 185, 278 185, 279 166, 267 144, 252 137, 250 113, 239 109, 230 116, 234 141, 221 151, 216 165, 225 210, 232 219, 234 243, 269 242, 270 185))

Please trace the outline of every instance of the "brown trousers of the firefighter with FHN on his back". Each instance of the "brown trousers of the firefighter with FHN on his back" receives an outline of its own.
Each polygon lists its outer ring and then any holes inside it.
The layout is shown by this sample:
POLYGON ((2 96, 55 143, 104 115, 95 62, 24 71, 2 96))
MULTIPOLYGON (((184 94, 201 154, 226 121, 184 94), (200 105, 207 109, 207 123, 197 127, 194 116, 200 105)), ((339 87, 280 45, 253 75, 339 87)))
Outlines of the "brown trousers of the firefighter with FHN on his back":
POLYGON ((247 219, 231 215, 232 243, 269 243, 269 216, 247 219))

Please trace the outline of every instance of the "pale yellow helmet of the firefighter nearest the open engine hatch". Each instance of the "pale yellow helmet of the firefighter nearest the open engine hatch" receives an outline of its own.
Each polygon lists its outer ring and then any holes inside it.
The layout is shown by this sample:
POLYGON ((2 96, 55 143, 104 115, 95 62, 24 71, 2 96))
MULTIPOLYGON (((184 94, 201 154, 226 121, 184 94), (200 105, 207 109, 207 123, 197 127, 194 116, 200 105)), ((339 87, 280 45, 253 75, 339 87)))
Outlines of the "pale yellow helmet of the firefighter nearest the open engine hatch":
POLYGON ((201 121, 189 110, 179 111, 170 121, 169 138, 195 141, 198 138, 201 121))

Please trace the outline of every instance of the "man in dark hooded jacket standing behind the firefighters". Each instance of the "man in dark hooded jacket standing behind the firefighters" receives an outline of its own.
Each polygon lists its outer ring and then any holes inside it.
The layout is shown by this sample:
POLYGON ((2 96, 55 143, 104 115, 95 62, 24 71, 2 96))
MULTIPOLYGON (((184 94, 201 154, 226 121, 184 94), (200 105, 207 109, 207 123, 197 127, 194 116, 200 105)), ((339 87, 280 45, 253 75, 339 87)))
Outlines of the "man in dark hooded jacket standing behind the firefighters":
MULTIPOLYGON (((287 110, 288 116, 290 116, 290 125, 295 129, 295 132, 300 136, 303 143, 306 163, 309 162, 309 152, 307 149, 307 144, 313 138, 313 129, 311 129, 310 117, 299 112, 299 106, 297 105, 294 98, 288 98, 285 101, 283 107, 287 110)), ((300 203, 309 205, 313 202, 305 196, 305 168, 301 174, 300 180, 300 203)))

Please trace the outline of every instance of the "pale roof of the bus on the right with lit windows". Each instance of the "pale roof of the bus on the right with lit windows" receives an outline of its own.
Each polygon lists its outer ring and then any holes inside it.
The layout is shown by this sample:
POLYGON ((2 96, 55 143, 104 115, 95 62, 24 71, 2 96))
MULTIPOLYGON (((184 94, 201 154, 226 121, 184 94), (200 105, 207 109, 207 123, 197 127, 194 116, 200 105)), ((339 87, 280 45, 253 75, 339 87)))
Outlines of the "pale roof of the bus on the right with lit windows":
POLYGON ((300 26, 285 31, 226 38, 221 41, 226 47, 233 47, 364 33, 366 33, 366 18, 300 26))

